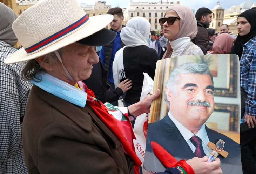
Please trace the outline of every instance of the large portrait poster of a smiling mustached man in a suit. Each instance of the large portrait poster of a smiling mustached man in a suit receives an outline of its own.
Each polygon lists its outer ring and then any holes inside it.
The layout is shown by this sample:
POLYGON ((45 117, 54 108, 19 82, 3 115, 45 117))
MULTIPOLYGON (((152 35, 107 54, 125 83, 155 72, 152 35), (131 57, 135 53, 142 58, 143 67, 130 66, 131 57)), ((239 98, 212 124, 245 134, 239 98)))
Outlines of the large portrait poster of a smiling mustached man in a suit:
POLYGON ((197 151, 188 136, 199 134, 202 154, 209 157, 218 147, 215 151, 220 151, 223 173, 242 173, 239 72, 239 59, 233 54, 185 55, 157 62, 153 93, 159 89, 160 96, 150 108, 144 169, 163 172, 166 168, 155 156, 151 142, 178 161, 188 160, 196 157, 197 151), (197 68, 191 68, 194 65, 207 67, 208 74, 196 72, 197 68), (186 135, 183 129, 190 133, 186 135), (209 142, 214 147, 208 147, 209 142), (228 153, 226 158, 224 152, 228 153))

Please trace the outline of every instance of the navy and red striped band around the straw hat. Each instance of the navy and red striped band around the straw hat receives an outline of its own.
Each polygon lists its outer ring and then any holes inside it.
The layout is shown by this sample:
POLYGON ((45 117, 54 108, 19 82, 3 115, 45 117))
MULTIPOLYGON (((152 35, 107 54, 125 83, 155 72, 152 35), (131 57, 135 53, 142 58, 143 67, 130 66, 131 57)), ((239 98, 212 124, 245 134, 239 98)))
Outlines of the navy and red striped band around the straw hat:
POLYGON ((65 36, 67 33, 75 30, 76 28, 80 27, 80 25, 82 25, 83 23, 85 23, 88 20, 88 15, 86 14, 85 16, 83 16, 80 20, 76 21, 75 23, 69 25, 68 27, 66 27, 65 29, 60 30, 59 32, 53 34, 52 36, 40 41, 37 44, 34 44, 33 46, 25 49, 27 53, 32 53, 36 50, 38 50, 39 48, 46 46, 50 43, 52 43, 54 40, 65 36))

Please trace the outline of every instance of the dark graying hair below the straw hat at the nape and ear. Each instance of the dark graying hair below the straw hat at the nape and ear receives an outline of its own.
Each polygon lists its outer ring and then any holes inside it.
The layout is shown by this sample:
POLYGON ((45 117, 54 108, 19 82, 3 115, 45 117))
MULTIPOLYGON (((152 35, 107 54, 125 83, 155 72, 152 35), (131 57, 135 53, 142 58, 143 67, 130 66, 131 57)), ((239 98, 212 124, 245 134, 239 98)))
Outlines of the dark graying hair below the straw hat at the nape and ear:
MULTIPOLYGON (((57 50, 60 56, 63 54, 64 49, 65 47, 57 50)), ((54 52, 48 53, 43 56, 45 58, 44 62, 47 61, 50 63, 56 63, 59 61, 54 52)), ((43 70, 44 68, 35 59, 28 60, 23 64, 23 70, 21 71, 21 78, 25 81, 33 80, 35 82, 40 82, 41 78, 36 77, 36 74, 41 73, 43 70)))

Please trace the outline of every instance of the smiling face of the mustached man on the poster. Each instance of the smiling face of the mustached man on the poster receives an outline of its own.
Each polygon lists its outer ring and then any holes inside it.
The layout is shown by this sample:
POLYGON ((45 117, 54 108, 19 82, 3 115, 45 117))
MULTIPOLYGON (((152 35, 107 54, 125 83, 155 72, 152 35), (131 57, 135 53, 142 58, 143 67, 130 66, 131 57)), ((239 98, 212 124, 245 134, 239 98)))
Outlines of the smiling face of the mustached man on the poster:
POLYGON ((210 75, 180 74, 175 88, 175 92, 166 88, 171 115, 183 125, 202 126, 214 109, 214 87, 210 75))

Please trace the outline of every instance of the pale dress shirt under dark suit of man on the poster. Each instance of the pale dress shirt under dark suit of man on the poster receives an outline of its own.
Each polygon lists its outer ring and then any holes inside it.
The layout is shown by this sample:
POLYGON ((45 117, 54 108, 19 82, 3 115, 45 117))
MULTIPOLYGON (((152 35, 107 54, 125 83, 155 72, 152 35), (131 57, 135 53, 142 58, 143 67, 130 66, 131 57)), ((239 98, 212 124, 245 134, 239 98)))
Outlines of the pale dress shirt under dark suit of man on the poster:
MULTIPOLYGON (((170 111, 168 112, 168 116, 174 122, 175 126, 178 128, 178 130, 180 131, 181 135, 184 137, 184 139, 188 143, 190 149, 193 151, 193 153, 195 153, 196 147, 189 140, 192 136, 194 136, 194 134, 191 133, 180 122, 178 122, 171 115, 170 111)), ((209 138, 208 138, 208 135, 206 133, 206 129, 205 129, 205 125, 204 124, 203 124, 203 126, 201 126, 201 128, 199 129, 199 131, 195 135, 198 136, 202 140, 202 146, 203 146, 204 153, 206 154, 207 157, 209 157, 210 156, 210 152, 212 151, 212 149, 210 147, 206 146, 206 144, 209 142, 209 138)))

